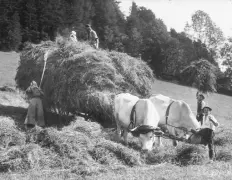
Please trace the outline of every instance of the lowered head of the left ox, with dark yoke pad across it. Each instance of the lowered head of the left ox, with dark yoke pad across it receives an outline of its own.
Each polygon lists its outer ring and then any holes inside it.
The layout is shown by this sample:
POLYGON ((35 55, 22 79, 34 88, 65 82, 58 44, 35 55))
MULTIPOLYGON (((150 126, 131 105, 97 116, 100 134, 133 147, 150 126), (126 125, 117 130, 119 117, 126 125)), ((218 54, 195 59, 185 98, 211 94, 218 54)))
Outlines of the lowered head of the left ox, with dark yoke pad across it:
POLYGON ((140 125, 131 129, 130 132, 133 136, 139 137, 141 148, 145 151, 150 151, 153 148, 155 142, 155 136, 162 136, 163 132, 158 127, 140 125))

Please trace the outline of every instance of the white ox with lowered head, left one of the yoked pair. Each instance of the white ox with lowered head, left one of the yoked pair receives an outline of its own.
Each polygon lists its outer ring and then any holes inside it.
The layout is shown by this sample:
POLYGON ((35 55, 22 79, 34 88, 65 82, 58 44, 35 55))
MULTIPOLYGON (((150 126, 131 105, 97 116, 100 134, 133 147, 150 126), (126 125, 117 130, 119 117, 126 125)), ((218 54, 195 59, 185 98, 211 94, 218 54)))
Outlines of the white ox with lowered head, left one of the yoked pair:
POLYGON ((127 144, 127 135, 130 131, 139 137, 142 150, 152 150, 154 134, 160 133, 157 130, 160 117, 152 102, 149 99, 139 99, 129 93, 121 93, 115 97, 114 108, 118 138, 121 138, 123 130, 123 138, 127 144), (131 122, 135 128, 131 126, 131 122), (129 130, 130 128, 133 129, 129 130))

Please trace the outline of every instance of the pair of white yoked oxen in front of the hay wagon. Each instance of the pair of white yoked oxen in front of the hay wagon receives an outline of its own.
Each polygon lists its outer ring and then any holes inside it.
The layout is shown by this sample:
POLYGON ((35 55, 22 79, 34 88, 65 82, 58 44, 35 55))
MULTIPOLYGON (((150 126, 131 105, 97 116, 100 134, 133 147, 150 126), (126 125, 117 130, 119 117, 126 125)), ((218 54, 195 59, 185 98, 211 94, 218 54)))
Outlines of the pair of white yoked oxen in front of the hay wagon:
POLYGON ((212 151, 212 130, 201 129, 189 105, 182 100, 161 94, 140 99, 129 93, 121 93, 115 96, 114 116, 117 137, 120 139, 123 136, 127 144, 127 136, 131 132, 139 138, 142 151, 162 146, 162 136, 171 138, 174 146, 181 140, 208 145, 209 152, 212 151))

